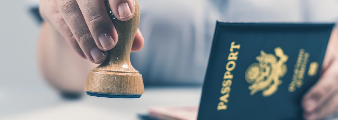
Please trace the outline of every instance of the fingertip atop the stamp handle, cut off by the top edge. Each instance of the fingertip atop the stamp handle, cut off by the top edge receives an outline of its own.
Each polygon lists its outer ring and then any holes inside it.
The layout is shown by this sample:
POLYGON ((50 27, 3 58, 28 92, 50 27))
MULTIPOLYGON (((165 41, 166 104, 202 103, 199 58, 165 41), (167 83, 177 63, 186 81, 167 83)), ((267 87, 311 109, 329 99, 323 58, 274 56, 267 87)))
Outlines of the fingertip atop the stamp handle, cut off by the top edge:
POLYGON ((134 0, 109 0, 109 5, 114 13, 114 16, 120 21, 127 21, 134 16, 134 0))

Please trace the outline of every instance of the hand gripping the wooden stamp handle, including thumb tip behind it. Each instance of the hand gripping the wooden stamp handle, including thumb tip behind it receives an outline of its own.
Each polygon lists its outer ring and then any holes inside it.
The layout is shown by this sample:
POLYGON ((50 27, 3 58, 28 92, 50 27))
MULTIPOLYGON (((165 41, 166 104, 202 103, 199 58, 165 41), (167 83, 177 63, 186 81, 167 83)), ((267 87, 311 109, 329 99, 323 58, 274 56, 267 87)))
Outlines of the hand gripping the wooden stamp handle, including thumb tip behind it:
MULTIPOLYGON (((134 15, 134 0, 109 0, 109 3, 120 21, 127 21, 134 15)), ((107 50, 118 41, 103 0, 41 0, 40 14, 81 57, 87 57, 93 63, 104 62, 107 50)), ((131 51, 141 50, 143 43, 138 29, 131 51)))

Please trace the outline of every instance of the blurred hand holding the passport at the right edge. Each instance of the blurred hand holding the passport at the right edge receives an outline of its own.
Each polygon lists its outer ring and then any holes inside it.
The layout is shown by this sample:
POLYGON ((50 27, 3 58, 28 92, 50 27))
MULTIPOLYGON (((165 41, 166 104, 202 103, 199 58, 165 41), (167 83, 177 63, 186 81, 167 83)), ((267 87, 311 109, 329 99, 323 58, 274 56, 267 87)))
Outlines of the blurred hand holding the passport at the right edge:
POLYGON ((304 118, 318 120, 338 110, 338 31, 332 31, 318 82, 303 97, 304 118))

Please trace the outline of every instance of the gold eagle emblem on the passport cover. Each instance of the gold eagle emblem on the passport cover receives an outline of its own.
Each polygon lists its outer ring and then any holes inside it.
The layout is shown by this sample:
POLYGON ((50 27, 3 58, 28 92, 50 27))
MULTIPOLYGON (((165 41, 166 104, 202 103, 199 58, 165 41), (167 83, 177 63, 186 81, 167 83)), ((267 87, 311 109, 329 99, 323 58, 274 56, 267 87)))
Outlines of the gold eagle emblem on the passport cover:
POLYGON ((262 91, 264 97, 268 97, 278 90, 282 84, 282 78, 286 72, 288 56, 280 47, 274 49, 274 54, 267 54, 261 50, 261 55, 256 57, 259 63, 253 63, 245 72, 245 80, 250 83, 250 95, 262 91), (277 57, 279 60, 277 61, 277 57))

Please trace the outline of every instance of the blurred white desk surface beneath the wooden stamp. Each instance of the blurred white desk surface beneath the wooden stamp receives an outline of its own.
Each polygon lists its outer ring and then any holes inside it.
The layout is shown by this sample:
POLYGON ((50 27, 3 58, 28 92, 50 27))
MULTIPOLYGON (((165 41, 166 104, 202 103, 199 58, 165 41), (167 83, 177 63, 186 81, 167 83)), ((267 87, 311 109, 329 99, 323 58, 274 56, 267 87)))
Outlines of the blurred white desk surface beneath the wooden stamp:
MULTIPOLYGON (((0 88, 0 120, 138 120, 137 114, 148 113, 151 106, 198 106, 201 95, 201 87, 148 87, 137 99, 83 94, 79 100, 66 101, 47 87, 4 89, 0 88)), ((338 120, 337 116, 325 120, 338 120)))

